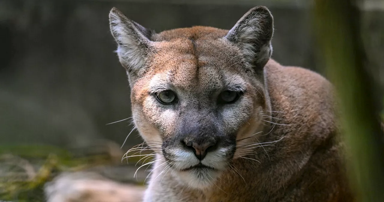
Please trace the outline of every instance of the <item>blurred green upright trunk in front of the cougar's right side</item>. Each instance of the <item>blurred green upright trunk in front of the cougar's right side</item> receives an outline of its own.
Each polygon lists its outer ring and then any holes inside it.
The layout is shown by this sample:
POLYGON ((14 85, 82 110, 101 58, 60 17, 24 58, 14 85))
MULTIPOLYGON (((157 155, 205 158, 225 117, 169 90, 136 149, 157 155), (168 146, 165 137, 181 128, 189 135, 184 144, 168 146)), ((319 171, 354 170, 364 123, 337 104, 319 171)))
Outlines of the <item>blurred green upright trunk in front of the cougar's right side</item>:
POLYGON ((317 39, 338 95, 346 165, 356 201, 384 199, 384 144, 375 106, 374 84, 366 70, 360 0, 316 0, 317 39))

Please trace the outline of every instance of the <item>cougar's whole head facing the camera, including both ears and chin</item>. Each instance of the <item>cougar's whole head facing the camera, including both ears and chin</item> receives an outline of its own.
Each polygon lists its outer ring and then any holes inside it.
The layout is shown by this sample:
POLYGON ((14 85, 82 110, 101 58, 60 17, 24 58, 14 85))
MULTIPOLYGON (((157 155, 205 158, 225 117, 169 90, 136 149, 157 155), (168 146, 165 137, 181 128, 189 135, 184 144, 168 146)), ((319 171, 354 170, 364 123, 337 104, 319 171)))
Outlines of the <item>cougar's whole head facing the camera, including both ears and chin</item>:
POLYGON ((229 32, 192 27, 154 33, 116 8, 109 17, 141 136, 176 179, 199 189, 211 185, 237 147, 263 129, 270 12, 255 7, 229 32))

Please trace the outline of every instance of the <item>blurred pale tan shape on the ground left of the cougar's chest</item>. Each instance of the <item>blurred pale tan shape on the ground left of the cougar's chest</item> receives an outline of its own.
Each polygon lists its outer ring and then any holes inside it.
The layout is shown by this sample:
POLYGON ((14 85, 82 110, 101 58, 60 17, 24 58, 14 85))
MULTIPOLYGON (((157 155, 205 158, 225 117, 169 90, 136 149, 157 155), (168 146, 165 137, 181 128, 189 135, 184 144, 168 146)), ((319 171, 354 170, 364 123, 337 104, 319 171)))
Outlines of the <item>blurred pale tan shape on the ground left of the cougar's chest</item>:
POLYGON ((139 202, 144 190, 94 172, 62 173, 44 188, 47 202, 139 202))

